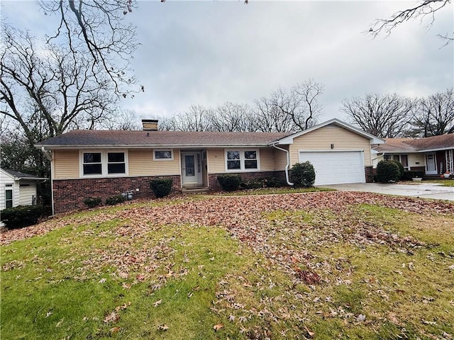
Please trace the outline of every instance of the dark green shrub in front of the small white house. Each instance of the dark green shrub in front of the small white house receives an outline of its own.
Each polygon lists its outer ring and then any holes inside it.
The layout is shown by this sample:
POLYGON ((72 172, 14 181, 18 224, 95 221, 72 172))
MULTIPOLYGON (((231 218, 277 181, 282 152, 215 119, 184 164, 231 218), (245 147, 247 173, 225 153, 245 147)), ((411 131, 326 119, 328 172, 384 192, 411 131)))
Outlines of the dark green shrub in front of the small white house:
POLYGON ((35 225, 43 214, 41 205, 18 205, 17 207, 1 210, 1 220, 8 229, 17 229, 35 225))

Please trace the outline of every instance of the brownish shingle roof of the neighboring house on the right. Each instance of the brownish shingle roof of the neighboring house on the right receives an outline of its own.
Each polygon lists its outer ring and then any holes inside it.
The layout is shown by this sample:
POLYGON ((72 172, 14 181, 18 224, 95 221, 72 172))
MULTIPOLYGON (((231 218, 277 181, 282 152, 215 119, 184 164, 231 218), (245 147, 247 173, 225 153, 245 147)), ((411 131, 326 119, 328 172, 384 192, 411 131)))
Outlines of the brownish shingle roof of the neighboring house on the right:
POLYGON ((411 138, 387 138, 386 143, 378 145, 378 152, 423 152, 430 150, 454 149, 454 134, 411 138))

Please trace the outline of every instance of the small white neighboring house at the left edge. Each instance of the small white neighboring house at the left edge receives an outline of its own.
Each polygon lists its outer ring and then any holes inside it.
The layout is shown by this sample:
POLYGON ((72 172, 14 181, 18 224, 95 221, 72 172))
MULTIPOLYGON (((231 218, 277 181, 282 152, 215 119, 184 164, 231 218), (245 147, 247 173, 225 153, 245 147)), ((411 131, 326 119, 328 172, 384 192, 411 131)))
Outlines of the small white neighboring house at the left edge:
POLYGON ((23 172, 0 169, 0 210, 18 205, 35 205, 36 182, 45 178, 23 172))

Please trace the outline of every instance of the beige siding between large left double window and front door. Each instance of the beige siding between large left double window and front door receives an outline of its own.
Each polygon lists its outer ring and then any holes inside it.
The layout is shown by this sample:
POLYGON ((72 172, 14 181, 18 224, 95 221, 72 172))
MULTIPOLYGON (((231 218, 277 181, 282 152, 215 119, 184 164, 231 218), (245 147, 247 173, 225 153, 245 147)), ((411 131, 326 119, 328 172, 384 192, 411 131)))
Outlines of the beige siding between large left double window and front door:
POLYGON ((129 176, 179 175, 179 150, 173 149, 171 161, 154 161, 153 149, 130 149, 128 151, 129 176))

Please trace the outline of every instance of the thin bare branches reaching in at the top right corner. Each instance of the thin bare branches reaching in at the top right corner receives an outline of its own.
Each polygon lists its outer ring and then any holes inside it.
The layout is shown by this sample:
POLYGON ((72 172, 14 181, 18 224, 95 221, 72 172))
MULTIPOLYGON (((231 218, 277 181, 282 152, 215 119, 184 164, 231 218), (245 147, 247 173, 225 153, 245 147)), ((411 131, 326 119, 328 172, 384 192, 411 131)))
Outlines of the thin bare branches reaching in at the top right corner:
MULTIPOLYGON (((389 18, 377 19, 375 23, 372 24, 369 33, 373 37, 376 37, 380 33, 389 35, 391 34, 391 31, 401 23, 416 18, 420 18, 421 22, 423 19, 428 18, 428 24, 426 27, 430 28, 435 21, 436 13, 442 8, 448 8, 449 10, 450 3, 451 0, 420 0, 417 4, 411 6, 410 8, 393 13, 389 18)), ((450 10, 452 11, 453 9, 450 8, 450 10)), ((438 34, 438 37, 445 41, 445 45, 448 45, 450 42, 453 42, 454 33, 438 34)))

